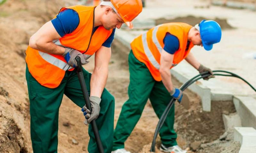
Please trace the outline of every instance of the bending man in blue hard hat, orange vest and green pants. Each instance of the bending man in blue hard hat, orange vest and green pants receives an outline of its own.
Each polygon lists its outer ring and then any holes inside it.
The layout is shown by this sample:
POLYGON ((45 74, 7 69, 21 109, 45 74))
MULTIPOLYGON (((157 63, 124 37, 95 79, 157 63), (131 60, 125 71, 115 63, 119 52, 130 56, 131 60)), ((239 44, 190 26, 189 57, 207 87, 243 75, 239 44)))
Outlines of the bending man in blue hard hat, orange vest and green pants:
MULTIPOLYGON (((170 69, 185 59, 199 73, 212 70, 204 67, 190 52, 194 45, 211 50, 212 45, 220 42, 220 25, 212 20, 201 21, 195 26, 186 23, 166 23, 151 28, 131 43, 129 54, 130 84, 129 99, 124 103, 114 131, 112 153, 130 153, 124 149, 124 142, 140 119, 148 98, 158 117, 172 98, 181 101, 183 93, 172 84, 170 69)), ((204 77, 205 80, 214 77, 204 77)), ((185 96, 185 95, 184 95, 185 96)), ((173 129, 174 106, 159 132, 161 151, 186 153, 176 142, 177 134, 173 129)))

